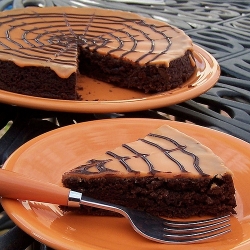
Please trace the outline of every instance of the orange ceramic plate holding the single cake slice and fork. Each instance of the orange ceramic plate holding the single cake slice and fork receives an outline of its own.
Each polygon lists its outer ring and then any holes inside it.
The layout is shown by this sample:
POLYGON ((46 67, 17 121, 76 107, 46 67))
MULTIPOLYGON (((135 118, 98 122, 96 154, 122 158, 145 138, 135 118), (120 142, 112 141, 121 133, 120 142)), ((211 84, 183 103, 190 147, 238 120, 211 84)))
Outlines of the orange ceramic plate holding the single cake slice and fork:
MULTIPOLYGON (((107 149, 138 139, 162 124, 198 139, 232 170, 237 191, 237 215, 232 232, 185 250, 250 249, 250 145, 224 133, 177 122, 149 119, 110 119, 76 124, 41 135, 19 148, 5 168, 31 178, 61 185, 61 175, 107 149)), ((138 235, 125 218, 63 214, 57 205, 3 199, 11 219, 24 231, 55 249, 167 250, 138 235)), ((182 250, 183 245, 175 245, 182 250)))

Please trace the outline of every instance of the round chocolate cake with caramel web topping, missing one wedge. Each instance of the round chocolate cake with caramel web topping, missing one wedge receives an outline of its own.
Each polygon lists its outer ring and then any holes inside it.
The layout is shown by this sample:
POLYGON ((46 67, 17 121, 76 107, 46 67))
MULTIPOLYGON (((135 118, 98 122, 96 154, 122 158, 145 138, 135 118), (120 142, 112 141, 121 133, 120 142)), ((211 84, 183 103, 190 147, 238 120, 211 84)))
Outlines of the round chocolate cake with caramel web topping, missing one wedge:
POLYGON ((26 8, 0 13, 0 89, 80 99, 77 73, 146 93, 182 85, 195 71, 191 39, 134 13, 26 8))

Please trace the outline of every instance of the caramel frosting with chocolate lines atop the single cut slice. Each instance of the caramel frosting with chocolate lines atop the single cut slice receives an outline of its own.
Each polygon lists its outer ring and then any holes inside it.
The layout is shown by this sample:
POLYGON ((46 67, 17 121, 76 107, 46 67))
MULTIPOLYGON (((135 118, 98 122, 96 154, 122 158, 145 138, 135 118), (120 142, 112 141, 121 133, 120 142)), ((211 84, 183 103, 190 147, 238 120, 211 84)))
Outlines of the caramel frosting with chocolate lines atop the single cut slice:
POLYGON ((229 172, 211 149, 163 125, 145 138, 107 151, 65 174, 83 178, 114 175, 213 178, 229 172))

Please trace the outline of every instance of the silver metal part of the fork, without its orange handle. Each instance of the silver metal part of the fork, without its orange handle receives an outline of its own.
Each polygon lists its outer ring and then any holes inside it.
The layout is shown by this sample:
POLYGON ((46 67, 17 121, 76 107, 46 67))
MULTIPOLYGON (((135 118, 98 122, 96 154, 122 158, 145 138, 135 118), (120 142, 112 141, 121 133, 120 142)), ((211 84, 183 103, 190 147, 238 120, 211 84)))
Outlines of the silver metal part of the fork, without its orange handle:
POLYGON ((117 212, 129 219, 133 229, 147 239, 161 243, 195 243, 230 232, 230 215, 207 220, 176 221, 114 205, 70 191, 68 206, 90 206, 117 212))

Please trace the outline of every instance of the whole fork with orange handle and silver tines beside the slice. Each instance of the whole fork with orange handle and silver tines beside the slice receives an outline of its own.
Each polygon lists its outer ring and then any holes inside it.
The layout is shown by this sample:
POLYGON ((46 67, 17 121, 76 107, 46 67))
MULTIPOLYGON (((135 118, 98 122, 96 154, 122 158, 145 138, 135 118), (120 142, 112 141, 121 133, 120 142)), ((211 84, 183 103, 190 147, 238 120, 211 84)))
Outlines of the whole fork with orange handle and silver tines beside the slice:
POLYGON ((95 200, 68 188, 39 182, 2 169, 0 170, 0 196, 72 207, 86 205, 117 212, 129 219, 137 233, 161 243, 194 243, 230 232, 230 215, 198 221, 166 220, 138 210, 95 200))

